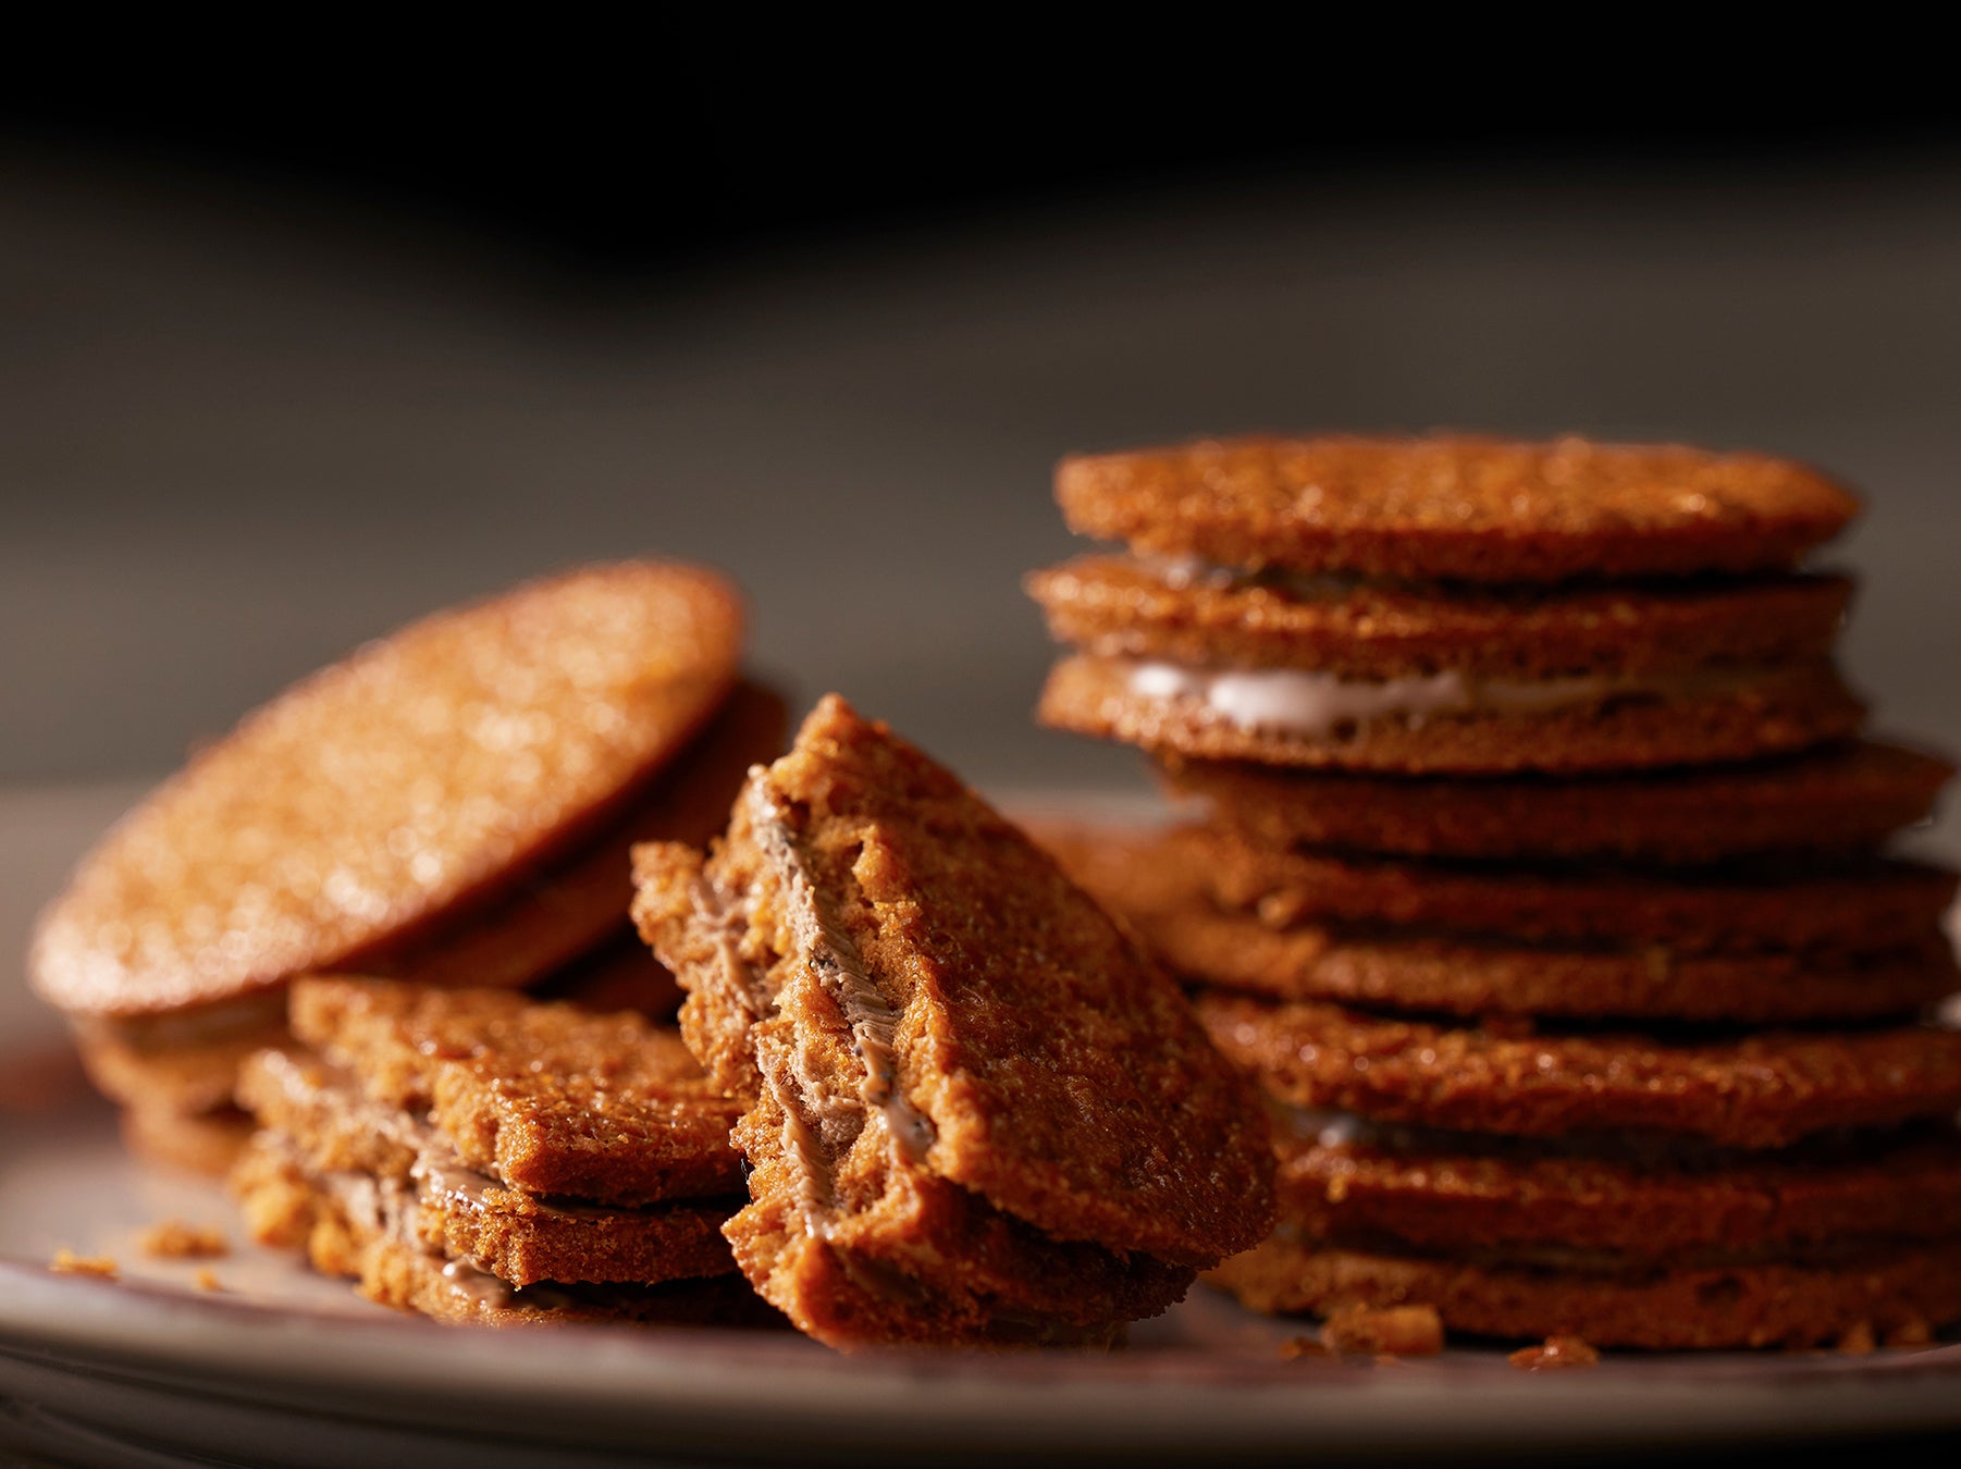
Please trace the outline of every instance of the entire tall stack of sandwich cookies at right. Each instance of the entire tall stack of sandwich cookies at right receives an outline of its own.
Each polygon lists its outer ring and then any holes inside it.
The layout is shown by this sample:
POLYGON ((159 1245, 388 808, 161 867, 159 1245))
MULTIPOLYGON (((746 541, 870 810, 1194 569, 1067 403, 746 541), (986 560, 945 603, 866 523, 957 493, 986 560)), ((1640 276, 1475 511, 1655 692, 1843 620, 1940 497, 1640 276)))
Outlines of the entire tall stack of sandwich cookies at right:
POLYGON ((1855 502, 1757 455, 1306 439, 1071 461, 1051 724, 1196 826, 1057 834, 1273 1110, 1263 1310, 1718 1347, 1961 1318, 1951 767, 1859 737, 1855 502))

